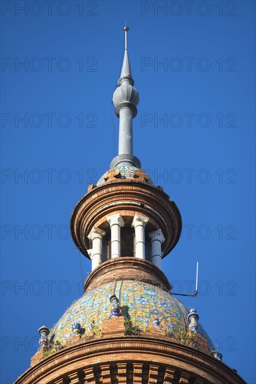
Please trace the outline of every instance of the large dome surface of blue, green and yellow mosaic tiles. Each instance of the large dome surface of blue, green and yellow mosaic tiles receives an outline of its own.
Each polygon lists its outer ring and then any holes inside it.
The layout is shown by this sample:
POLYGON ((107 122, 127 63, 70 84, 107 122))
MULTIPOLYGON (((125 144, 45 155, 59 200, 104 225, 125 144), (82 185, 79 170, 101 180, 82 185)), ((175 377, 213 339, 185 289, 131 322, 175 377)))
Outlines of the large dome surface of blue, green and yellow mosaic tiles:
MULTIPOLYGON (((58 323, 52 327, 49 335, 50 344, 59 341, 65 344, 73 336, 73 323, 80 323, 82 332, 91 332, 91 323, 100 327, 105 318, 111 314, 110 297, 119 299, 121 316, 129 318, 142 330, 153 327, 153 320, 158 319, 164 330, 178 332, 181 328, 188 330, 188 309, 170 293, 137 281, 117 281, 106 283, 83 295, 63 314, 58 323)), ((208 339, 209 347, 213 347, 211 339, 199 324, 198 333, 208 339)))

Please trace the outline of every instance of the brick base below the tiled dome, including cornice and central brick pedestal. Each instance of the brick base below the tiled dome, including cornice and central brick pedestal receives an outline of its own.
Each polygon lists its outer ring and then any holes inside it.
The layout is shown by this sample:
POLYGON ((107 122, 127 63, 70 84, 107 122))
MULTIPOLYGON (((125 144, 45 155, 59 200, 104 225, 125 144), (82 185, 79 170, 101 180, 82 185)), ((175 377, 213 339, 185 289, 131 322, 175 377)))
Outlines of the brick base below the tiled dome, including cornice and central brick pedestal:
POLYGON ((94 339, 75 336, 43 358, 39 350, 15 384, 246 384, 223 362, 162 330, 126 336, 123 318, 104 321, 94 339))

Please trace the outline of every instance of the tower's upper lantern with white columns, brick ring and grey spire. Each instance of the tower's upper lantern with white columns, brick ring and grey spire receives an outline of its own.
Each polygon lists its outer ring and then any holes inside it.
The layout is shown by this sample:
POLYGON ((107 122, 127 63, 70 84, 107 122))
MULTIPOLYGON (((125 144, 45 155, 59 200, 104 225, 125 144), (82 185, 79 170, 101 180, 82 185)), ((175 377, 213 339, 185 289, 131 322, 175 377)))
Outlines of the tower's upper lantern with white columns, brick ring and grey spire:
POLYGON ((130 70, 128 27, 123 31, 126 49, 113 95, 119 117, 119 154, 112 160, 110 170, 96 185, 89 186, 75 206, 70 228, 78 249, 91 258, 93 271, 107 260, 129 257, 152 263, 156 275, 156 269, 162 269, 162 258, 179 240, 181 215, 162 187, 153 185, 133 155, 133 118, 139 94, 130 70))

